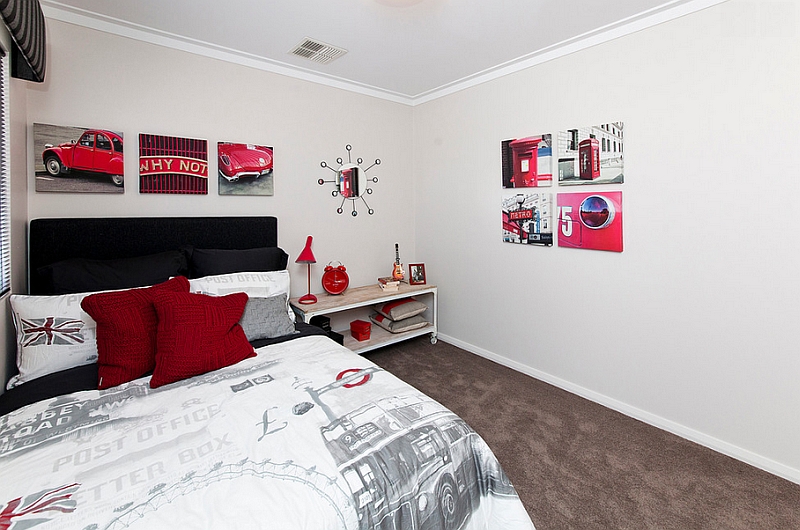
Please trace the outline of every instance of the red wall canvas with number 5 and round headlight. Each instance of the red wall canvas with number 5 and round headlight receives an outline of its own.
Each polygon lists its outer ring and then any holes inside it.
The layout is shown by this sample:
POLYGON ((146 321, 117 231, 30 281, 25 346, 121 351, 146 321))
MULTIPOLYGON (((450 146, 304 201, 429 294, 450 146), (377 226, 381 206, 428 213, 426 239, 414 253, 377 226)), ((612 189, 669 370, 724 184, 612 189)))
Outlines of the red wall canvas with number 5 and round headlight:
POLYGON ((622 252, 622 192, 559 193, 558 246, 622 252))

